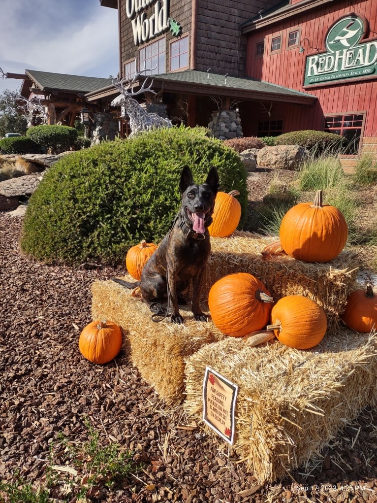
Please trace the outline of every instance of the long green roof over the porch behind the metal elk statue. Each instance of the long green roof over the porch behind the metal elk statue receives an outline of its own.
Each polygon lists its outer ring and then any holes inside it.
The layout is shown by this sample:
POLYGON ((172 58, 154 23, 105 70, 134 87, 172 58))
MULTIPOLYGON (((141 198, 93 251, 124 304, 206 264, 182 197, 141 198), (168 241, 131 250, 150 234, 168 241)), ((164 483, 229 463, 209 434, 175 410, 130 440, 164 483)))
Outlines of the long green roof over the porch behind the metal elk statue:
MULTIPOLYGON (((225 76, 218 73, 211 73, 211 71, 198 71, 198 70, 184 70, 173 73, 159 73, 157 75, 150 75, 149 78, 154 80, 162 80, 164 82, 181 83, 182 85, 200 86, 202 89, 218 88, 222 93, 227 90, 229 94, 236 93, 250 93, 252 98, 253 93, 256 95, 280 96, 286 97, 289 101, 308 101, 314 102, 317 98, 309 93, 295 91, 293 89, 277 86, 263 80, 258 80, 251 77, 234 77, 225 76)), ((210 89, 209 89, 210 91, 210 89)))

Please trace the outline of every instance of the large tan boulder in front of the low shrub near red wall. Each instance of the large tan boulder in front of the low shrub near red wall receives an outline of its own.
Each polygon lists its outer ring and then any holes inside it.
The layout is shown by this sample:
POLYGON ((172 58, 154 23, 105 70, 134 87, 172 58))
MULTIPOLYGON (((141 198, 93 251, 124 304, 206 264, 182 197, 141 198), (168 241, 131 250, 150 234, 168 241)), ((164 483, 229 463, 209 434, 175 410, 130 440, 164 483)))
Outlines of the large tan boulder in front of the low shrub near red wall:
POLYGON ((261 148, 256 157, 259 167, 279 170, 297 170, 308 157, 309 151, 300 145, 276 145, 261 148))

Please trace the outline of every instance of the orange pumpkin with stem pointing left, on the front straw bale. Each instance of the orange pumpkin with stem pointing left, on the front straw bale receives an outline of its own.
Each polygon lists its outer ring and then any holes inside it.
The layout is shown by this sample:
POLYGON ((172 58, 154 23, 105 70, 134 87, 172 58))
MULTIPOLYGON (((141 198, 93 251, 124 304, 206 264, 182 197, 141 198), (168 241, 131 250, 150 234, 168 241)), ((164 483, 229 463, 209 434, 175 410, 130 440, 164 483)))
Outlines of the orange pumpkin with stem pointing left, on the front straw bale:
POLYGON ((279 299, 271 310, 271 324, 282 344, 296 349, 317 346, 325 336, 327 318, 320 305, 308 297, 287 295, 279 299))

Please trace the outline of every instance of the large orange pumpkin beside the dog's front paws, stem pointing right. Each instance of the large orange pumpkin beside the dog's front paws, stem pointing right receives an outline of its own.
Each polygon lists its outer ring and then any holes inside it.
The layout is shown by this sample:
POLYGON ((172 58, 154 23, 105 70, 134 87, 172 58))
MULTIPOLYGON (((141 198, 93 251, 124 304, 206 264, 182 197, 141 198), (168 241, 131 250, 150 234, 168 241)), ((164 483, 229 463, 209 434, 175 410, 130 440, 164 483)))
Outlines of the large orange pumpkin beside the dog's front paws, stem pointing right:
POLYGON ((242 337, 264 328, 273 302, 264 284, 249 273, 228 274, 211 287, 212 321, 227 336, 242 337))

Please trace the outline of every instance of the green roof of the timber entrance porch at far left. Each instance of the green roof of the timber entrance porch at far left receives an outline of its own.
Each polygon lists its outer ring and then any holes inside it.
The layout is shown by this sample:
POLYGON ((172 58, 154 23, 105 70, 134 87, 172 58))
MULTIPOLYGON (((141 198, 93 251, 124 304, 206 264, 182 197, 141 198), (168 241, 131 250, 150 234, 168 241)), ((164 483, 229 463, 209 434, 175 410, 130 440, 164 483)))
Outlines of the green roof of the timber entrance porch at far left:
POLYGON ((56 89, 71 93, 89 93, 112 83, 111 78, 83 77, 38 70, 25 70, 25 72, 25 77, 30 77, 42 91, 56 89))

